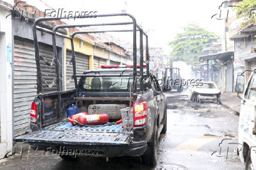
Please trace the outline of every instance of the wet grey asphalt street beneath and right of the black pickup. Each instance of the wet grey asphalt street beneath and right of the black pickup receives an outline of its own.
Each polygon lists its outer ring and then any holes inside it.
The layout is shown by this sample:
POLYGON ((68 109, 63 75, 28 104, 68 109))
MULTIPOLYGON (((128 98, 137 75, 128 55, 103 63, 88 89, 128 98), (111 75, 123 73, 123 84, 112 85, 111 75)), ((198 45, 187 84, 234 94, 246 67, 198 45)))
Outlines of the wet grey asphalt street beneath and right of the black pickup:
POLYGON ((243 169, 236 145, 228 144, 237 141, 237 115, 214 103, 191 103, 186 92, 166 96, 167 134, 160 137, 156 167, 140 164, 140 158, 64 161, 32 151, 29 157, 15 154, 0 160, 0 169, 243 169))

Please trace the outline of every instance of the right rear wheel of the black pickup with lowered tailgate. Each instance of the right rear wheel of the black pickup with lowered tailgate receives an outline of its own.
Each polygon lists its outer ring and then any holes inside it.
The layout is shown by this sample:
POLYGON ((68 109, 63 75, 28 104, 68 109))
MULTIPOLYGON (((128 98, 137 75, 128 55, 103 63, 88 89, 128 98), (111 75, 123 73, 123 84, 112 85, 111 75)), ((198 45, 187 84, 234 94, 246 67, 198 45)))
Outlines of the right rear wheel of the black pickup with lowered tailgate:
POLYGON ((142 161, 146 165, 154 166, 157 164, 157 149, 159 144, 158 127, 154 128, 153 138, 147 144, 147 150, 142 155, 142 161))

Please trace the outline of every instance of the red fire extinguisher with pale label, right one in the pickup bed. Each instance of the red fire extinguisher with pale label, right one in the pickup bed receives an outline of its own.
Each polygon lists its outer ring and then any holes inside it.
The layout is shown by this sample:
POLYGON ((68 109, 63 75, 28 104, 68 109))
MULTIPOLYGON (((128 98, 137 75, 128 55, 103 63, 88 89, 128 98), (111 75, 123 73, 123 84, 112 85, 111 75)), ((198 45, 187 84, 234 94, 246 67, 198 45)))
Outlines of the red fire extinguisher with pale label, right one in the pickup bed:
POLYGON ((80 115, 78 118, 79 125, 99 125, 105 124, 109 121, 109 115, 103 114, 89 114, 80 115))

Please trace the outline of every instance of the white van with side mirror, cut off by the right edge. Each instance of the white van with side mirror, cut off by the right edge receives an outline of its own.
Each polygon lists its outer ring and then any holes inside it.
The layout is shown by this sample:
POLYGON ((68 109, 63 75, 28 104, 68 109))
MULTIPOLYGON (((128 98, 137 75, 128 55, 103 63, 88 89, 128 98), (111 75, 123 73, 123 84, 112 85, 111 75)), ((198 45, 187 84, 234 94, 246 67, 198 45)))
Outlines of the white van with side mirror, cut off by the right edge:
POLYGON ((237 76, 235 91, 242 93, 238 130, 238 154, 245 164, 245 169, 256 170, 256 68, 245 70, 237 76), (244 73, 251 72, 250 79, 244 86, 244 73))

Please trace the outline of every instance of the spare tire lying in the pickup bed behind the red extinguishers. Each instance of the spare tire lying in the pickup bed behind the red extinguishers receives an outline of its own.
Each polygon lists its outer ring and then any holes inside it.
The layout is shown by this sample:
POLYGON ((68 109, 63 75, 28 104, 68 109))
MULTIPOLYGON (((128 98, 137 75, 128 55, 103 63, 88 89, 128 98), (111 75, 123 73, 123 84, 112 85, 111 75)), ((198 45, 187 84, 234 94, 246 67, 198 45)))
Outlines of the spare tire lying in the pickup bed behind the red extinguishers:
POLYGON ((88 114, 102 114, 109 115, 109 119, 121 119, 121 109, 126 108, 126 104, 90 104, 88 107, 88 114))

